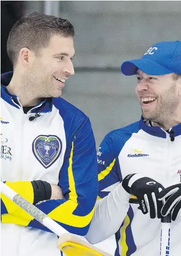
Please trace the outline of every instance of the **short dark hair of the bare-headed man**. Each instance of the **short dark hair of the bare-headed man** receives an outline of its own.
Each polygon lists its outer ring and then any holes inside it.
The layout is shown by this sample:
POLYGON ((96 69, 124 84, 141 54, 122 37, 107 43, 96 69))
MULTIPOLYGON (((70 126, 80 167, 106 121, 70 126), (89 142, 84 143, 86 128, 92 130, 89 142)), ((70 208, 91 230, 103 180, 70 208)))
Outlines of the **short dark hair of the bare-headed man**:
POLYGON ((7 42, 11 63, 16 65, 19 52, 24 47, 38 53, 39 49, 48 46, 53 35, 73 37, 74 27, 68 20, 36 12, 17 20, 7 42))

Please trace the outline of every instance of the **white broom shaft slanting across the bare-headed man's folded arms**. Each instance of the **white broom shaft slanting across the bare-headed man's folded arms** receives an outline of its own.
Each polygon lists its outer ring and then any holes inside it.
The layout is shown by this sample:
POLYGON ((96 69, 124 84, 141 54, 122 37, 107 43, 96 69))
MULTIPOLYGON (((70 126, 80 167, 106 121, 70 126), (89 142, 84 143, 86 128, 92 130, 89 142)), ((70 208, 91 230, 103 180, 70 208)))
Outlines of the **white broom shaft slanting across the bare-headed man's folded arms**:
POLYGON ((34 219, 38 220, 45 227, 48 227, 48 229, 54 232, 57 236, 61 236, 64 233, 69 233, 67 230, 63 229, 63 227, 57 224, 54 220, 49 218, 48 215, 43 213, 33 204, 29 203, 25 198, 21 197, 20 194, 17 194, 14 190, 5 185, 5 183, 3 183, 2 181, 1 192, 15 204, 19 205, 19 207, 24 209, 28 214, 33 216, 34 219))

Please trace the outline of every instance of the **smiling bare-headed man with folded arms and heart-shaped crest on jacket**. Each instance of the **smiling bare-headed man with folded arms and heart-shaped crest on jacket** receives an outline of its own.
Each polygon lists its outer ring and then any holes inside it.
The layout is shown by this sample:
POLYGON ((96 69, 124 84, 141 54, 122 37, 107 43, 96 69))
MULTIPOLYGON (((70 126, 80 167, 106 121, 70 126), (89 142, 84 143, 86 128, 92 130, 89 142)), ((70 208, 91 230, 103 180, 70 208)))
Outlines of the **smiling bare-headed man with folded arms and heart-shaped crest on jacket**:
MULTIPOLYGON (((38 13, 11 29, 14 71, 1 76, 1 180, 84 236, 97 198, 97 158, 89 118, 60 98, 74 75, 73 36, 68 20, 38 13)), ((57 236, 3 194, 1 221, 3 256, 61 255, 57 236)))

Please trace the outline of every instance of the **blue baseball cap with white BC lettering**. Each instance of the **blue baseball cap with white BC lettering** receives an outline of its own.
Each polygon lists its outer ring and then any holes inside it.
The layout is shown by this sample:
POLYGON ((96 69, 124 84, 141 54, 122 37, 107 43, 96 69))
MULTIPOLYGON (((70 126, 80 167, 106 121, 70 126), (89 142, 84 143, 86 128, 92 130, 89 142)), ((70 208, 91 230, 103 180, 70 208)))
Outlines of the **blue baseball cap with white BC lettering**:
POLYGON ((121 65, 126 76, 136 75, 137 69, 148 75, 181 75, 181 41, 155 43, 141 59, 127 60, 121 65))

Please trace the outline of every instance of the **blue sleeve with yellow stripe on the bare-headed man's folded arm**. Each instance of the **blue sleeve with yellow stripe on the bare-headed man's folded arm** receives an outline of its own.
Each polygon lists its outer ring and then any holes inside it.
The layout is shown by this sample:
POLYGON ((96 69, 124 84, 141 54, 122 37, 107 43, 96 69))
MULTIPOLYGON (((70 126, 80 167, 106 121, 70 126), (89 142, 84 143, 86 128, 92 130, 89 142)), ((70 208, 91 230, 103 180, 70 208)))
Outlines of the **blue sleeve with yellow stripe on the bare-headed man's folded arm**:
MULTIPOLYGON (((96 146, 89 118, 81 121, 67 143, 59 186, 65 198, 38 203, 36 207, 69 232, 84 236, 89 230, 98 193, 96 146)), ((2 222, 13 221, 8 214, 2 215, 2 222)), ((19 218, 16 221, 23 225, 19 218)), ((25 226, 50 231, 33 218, 25 226)))

